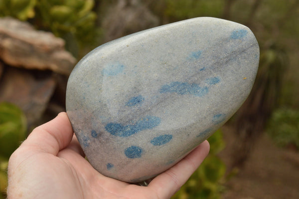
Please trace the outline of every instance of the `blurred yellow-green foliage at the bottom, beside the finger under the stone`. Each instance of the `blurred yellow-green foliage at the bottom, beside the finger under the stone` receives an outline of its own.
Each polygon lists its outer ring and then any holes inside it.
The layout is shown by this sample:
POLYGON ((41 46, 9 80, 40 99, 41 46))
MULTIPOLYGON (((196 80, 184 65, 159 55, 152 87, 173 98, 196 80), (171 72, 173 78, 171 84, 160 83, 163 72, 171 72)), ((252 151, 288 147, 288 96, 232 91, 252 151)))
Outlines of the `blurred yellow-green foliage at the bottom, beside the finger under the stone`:
POLYGON ((209 139, 210 152, 199 168, 171 199, 219 199, 224 190, 226 166, 217 156, 225 143, 222 131, 217 130, 209 139))

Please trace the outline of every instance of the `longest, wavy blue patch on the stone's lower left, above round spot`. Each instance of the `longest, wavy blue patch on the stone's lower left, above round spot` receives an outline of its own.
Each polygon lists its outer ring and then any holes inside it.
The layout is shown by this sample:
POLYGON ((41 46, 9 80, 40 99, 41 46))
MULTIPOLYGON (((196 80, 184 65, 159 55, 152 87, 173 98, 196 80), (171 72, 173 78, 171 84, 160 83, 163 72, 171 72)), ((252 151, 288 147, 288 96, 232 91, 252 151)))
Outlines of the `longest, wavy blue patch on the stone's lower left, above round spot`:
POLYGON ((128 137, 146 129, 152 129, 160 124, 161 120, 155 116, 147 116, 134 125, 124 126, 119 123, 109 123, 105 126, 106 131, 111 135, 128 137))

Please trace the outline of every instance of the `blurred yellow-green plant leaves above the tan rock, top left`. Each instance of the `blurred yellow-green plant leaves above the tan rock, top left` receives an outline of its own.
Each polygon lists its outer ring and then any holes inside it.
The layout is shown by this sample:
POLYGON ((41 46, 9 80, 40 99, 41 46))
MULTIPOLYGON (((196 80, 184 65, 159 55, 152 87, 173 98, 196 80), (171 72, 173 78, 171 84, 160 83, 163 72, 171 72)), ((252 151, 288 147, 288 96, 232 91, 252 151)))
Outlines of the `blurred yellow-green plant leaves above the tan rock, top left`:
POLYGON ((78 56, 102 34, 95 26, 94 0, 0 0, 0 16, 29 20, 37 29, 49 30, 66 41, 78 56))

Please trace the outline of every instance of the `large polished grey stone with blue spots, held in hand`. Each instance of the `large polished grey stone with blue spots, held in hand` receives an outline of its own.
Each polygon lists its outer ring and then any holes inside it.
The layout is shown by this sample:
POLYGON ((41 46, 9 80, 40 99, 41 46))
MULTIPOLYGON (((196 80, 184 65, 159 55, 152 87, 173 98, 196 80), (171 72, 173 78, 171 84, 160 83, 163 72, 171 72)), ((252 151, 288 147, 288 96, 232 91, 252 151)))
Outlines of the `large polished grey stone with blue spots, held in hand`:
POLYGON ((199 17, 148 29, 99 46, 76 65, 67 114, 96 170, 144 181, 235 113, 258 63, 254 34, 235 22, 199 17))

